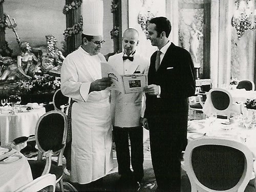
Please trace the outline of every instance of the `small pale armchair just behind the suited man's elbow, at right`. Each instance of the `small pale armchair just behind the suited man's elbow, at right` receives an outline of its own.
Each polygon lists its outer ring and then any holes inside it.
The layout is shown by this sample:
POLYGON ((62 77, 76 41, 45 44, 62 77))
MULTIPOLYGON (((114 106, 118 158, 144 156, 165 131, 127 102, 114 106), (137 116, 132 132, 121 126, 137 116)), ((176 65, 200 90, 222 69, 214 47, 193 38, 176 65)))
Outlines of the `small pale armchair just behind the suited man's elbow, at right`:
POLYGON ((193 112, 194 119, 196 119, 197 112, 203 113, 204 102, 202 100, 202 97, 203 97, 202 95, 195 95, 188 98, 188 101, 189 101, 188 110, 189 112, 193 112))

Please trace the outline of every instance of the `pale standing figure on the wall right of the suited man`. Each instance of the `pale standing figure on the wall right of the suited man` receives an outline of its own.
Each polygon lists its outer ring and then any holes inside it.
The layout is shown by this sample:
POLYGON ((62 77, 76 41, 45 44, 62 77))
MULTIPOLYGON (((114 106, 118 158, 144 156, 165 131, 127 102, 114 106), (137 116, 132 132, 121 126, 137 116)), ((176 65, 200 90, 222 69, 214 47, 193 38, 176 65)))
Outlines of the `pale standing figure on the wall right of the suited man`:
POLYGON ((198 57, 197 57, 197 51, 199 48, 199 39, 203 36, 201 31, 199 31, 196 27, 196 24, 193 22, 190 25, 191 31, 190 31, 190 48, 189 52, 191 55, 194 57, 194 62, 195 64, 198 63, 198 57))

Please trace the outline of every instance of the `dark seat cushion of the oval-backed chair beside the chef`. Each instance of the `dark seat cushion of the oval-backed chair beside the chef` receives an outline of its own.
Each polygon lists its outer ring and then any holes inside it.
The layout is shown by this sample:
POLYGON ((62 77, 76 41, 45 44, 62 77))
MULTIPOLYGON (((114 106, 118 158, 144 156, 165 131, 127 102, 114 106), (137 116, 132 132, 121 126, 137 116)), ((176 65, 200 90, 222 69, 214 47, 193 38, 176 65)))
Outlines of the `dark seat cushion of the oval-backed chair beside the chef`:
MULTIPOLYGON (((28 160, 31 168, 33 179, 36 179, 42 175, 44 171, 46 160, 28 160)), ((50 174, 54 174, 56 176, 56 180, 58 180, 63 174, 62 166, 57 166, 57 162, 52 161, 50 174)))

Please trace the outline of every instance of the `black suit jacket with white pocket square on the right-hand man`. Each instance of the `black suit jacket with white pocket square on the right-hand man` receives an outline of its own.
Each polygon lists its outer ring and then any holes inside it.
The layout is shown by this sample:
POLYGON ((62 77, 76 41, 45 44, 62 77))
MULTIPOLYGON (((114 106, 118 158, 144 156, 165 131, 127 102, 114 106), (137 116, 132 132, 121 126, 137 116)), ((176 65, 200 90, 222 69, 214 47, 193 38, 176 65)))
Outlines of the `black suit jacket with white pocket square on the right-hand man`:
POLYGON ((161 98, 146 94, 144 117, 148 122, 156 118, 166 122, 161 129, 176 138, 176 146, 182 151, 187 144, 188 97, 193 96, 196 89, 194 64, 188 51, 172 43, 156 72, 156 55, 157 52, 151 56, 147 77, 148 84, 161 87, 161 98))

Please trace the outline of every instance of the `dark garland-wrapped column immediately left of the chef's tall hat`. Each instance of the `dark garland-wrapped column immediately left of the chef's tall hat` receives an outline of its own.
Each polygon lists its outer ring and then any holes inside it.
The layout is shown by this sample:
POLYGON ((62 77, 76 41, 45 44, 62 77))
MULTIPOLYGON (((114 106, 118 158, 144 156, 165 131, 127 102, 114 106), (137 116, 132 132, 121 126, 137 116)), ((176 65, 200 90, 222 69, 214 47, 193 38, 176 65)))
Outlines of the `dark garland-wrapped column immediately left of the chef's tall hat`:
POLYGON ((81 4, 82 0, 66 0, 66 5, 63 8, 63 14, 66 15, 66 30, 63 35, 65 36, 67 54, 81 45, 81 4))

